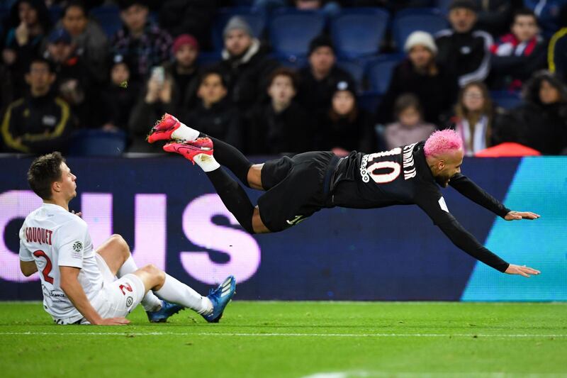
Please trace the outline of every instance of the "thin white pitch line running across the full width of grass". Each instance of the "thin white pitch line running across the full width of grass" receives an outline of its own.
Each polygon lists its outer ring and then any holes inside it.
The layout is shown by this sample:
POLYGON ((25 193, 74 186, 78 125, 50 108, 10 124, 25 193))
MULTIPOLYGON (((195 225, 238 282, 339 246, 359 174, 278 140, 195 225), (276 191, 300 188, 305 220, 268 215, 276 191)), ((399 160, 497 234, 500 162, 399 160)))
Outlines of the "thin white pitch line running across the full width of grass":
POLYGON ((567 338, 565 334, 505 334, 482 333, 207 333, 207 332, 0 332, 3 335, 91 335, 91 336, 236 336, 292 338, 567 338))

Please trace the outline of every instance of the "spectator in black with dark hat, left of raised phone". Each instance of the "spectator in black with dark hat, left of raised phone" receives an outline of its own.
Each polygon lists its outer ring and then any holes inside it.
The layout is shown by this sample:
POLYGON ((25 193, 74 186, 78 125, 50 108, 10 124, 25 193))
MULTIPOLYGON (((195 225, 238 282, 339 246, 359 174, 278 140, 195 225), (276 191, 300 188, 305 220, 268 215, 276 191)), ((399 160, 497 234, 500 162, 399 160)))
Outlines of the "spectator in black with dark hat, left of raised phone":
MULTIPOLYGON (((140 86, 130 82, 130 66, 122 55, 111 62, 111 82, 102 91, 104 109, 102 128, 106 131, 128 130, 130 112, 136 104, 140 86)), ((150 123, 151 125, 151 123, 150 123)))

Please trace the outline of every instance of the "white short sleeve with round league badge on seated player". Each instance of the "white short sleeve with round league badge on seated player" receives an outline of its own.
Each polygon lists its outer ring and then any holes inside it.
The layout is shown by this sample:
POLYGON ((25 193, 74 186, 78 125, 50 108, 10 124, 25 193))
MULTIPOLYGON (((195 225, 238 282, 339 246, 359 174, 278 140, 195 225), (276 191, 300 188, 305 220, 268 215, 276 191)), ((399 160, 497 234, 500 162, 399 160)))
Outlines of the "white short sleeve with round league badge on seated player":
POLYGON ((57 230, 57 265, 60 267, 83 267, 83 251, 86 241, 86 224, 69 221, 57 230))

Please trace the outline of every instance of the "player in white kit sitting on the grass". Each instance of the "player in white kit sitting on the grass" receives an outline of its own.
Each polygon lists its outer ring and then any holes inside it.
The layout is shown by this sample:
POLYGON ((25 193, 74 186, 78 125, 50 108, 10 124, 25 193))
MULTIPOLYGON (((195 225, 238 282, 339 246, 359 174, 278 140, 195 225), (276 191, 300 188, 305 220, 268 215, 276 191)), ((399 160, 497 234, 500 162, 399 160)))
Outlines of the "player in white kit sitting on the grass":
POLYGON ((120 235, 94 250, 80 213, 69 212, 76 180, 59 152, 38 157, 28 171, 43 206, 23 222, 20 266, 26 277, 40 272, 43 307, 55 323, 128 324, 125 316, 140 302, 153 323, 185 307, 218 322, 235 293, 234 277, 201 296, 154 265, 138 269, 120 235))

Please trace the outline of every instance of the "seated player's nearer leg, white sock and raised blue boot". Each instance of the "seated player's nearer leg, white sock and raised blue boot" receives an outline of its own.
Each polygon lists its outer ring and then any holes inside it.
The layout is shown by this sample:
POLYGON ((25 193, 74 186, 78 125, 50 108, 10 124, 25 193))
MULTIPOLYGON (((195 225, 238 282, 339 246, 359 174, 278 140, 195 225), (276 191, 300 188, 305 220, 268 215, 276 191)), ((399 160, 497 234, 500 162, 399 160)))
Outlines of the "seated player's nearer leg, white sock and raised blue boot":
POLYGON ((155 294, 166 301, 191 308, 200 313, 206 321, 216 323, 235 293, 236 281, 230 276, 208 296, 201 296, 195 290, 170 276, 154 265, 146 265, 134 274, 142 281, 145 290, 155 291, 155 294))

